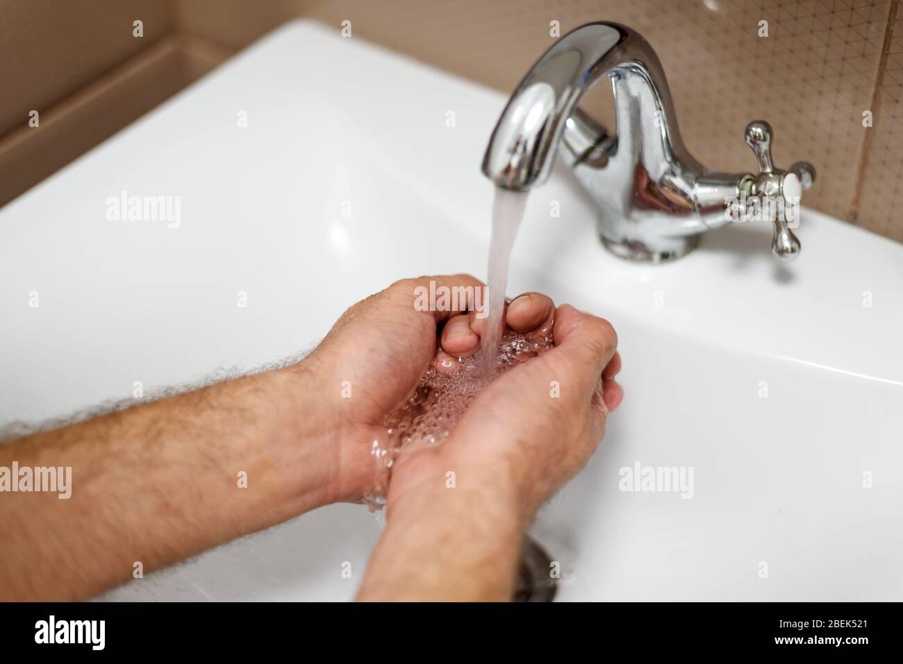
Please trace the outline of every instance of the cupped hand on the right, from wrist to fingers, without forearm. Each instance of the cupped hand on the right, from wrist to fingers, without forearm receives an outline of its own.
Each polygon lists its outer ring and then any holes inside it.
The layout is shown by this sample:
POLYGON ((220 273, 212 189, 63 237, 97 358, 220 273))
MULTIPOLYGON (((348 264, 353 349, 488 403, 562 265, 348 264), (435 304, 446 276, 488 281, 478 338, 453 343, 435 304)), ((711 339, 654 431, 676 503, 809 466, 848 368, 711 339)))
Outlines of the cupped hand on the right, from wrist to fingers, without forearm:
MULTIPOLYGON (((492 491, 529 521, 599 445, 609 412, 623 398, 614 380, 620 370, 614 328, 570 305, 555 310, 545 296, 530 296, 532 309, 522 318, 537 327, 554 318, 554 348, 491 383, 442 446, 402 454, 386 497, 389 513, 405 494, 416 496, 418 485, 454 471, 459 485, 492 491)), ((509 324, 512 318, 509 309, 509 324)))

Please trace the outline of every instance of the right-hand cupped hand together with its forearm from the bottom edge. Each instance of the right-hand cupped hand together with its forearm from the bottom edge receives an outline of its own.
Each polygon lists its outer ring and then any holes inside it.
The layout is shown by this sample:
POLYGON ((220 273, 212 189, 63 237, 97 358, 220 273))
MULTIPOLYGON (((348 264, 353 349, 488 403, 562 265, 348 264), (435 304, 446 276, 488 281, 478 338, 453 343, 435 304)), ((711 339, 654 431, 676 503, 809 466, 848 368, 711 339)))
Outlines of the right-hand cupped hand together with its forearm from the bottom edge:
MULTIPOLYGON (((543 296, 531 298, 535 309, 554 309, 543 296)), ((542 318, 530 313, 531 321, 542 318)), ((623 397, 607 321, 563 305, 554 340, 480 393, 442 446, 403 452, 360 599, 511 597, 526 526, 586 463, 623 397)))

